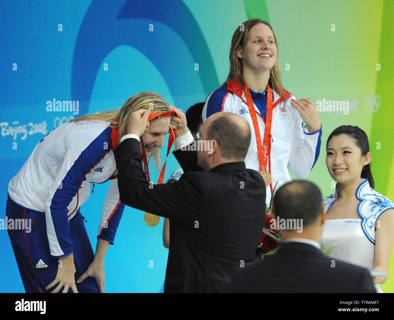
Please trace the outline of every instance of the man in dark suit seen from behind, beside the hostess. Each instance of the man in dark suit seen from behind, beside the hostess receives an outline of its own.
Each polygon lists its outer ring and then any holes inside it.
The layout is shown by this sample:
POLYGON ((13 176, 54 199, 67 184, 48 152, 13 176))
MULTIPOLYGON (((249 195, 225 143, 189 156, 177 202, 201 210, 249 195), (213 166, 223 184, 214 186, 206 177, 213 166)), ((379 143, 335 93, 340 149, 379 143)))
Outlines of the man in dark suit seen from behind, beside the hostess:
POLYGON ((285 240, 278 251, 240 269, 234 276, 232 292, 376 292, 367 269, 322 253, 318 240, 324 209, 316 185, 301 180, 286 183, 275 193, 273 203, 280 220, 276 222, 295 219, 292 225, 302 226, 302 232, 301 228, 281 229, 285 240))

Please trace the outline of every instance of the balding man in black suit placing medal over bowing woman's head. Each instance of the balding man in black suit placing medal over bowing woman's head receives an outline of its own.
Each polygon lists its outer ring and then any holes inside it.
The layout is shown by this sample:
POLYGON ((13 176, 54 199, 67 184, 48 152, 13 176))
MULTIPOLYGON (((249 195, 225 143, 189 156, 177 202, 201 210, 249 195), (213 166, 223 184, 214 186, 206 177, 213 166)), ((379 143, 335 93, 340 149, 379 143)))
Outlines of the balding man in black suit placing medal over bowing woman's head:
POLYGON ((130 116, 128 135, 115 150, 120 198, 169 218, 164 292, 229 292, 234 272, 255 260, 265 219, 264 180, 244 162, 251 131, 242 117, 216 113, 201 128, 199 150, 191 151, 186 117, 174 111, 174 155, 185 173, 175 183, 148 183, 138 137, 147 130, 149 111, 139 110, 130 116))

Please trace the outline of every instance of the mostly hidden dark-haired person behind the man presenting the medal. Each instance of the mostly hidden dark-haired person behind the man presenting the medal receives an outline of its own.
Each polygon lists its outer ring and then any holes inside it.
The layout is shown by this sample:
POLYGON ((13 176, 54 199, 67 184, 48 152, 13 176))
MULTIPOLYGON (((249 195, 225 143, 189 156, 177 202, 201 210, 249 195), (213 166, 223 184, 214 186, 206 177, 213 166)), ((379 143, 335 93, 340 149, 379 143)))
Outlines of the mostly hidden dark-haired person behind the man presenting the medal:
MULTIPOLYGON (((201 126, 203 125, 203 108, 204 102, 200 102, 198 104, 192 105, 186 111, 186 121, 188 122, 188 128, 190 130, 193 139, 196 139, 197 132, 201 131, 201 126)), ((172 183, 178 181, 180 176, 183 174, 182 168, 178 168, 175 170, 171 177, 168 179, 167 183, 172 183)), ((170 245, 170 224, 167 218, 164 219, 164 226, 163 226, 163 244, 165 248, 169 248, 170 245)))

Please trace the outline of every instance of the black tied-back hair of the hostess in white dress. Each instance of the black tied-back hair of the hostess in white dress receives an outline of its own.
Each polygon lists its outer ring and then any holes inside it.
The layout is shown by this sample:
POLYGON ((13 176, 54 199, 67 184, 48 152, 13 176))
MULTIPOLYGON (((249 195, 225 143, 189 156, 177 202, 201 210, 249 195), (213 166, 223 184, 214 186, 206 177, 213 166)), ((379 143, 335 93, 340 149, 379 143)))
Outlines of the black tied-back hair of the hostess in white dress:
MULTIPOLYGON (((360 129, 359 127, 355 127, 355 126, 340 126, 340 127, 336 128, 333 132, 331 132, 331 135, 328 137, 326 148, 327 148, 328 142, 331 140, 332 137, 335 137, 337 135, 342 135, 342 134, 348 135, 355 140, 356 146, 358 146, 361 149, 362 156, 366 155, 369 152, 368 136, 366 135, 366 133, 362 129, 360 129)), ((371 188, 375 189, 375 182, 374 182, 374 178, 372 177, 370 163, 368 163, 368 165, 365 165, 362 168, 361 178, 367 178, 371 188)))

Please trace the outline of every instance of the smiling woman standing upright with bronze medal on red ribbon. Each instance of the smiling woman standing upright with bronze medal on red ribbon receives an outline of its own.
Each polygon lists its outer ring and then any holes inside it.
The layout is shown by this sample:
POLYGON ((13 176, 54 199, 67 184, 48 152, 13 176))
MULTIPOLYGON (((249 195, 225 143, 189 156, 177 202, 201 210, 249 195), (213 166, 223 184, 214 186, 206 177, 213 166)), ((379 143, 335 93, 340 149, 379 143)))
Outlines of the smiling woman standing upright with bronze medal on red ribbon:
POLYGON ((268 22, 251 19, 234 32, 229 75, 208 96, 203 120, 220 111, 249 123, 252 141, 245 165, 262 174, 267 203, 273 184, 279 181, 279 188, 291 180, 287 166, 299 178, 308 176, 320 153, 322 126, 309 98, 296 100, 284 89, 277 39, 268 22))

